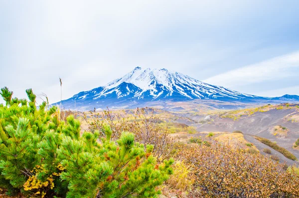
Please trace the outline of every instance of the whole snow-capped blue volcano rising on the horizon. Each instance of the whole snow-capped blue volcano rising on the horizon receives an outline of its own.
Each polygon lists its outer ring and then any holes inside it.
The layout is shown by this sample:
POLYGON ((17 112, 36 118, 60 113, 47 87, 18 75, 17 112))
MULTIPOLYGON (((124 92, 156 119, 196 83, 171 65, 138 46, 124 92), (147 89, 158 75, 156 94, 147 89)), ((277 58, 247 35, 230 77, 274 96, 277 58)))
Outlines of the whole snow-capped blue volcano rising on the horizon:
MULTIPOLYGON (((277 97, 277 100, 281 98, 285 97, 277 97)), ((62 104, 64 108, 70 109, 86 106, 105 108, 106 106, 132 106, 133 104, 142 104, 149 101, 186 101, 193 99, 251 102, 254 100, 274 100, 276 98, 240 93, 221 86, 210 85, 167 69, 136 67, 122 78, 116 79, 105 86, 80 92, 62 101, 62 104)))

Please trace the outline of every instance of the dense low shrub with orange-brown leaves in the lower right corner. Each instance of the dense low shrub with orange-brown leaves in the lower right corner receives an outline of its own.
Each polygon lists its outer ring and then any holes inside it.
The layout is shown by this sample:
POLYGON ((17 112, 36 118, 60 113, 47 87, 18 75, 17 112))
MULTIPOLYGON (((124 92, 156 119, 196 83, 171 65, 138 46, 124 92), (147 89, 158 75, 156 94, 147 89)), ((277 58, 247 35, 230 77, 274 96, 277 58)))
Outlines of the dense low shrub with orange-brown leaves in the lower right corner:
POLYGON ((194 189, 198 190, 195 197, 295 198, 299 195, 299 176, 261 154, 251 155, 218 143, 180 151, 177 157, 194 168, 194 189))

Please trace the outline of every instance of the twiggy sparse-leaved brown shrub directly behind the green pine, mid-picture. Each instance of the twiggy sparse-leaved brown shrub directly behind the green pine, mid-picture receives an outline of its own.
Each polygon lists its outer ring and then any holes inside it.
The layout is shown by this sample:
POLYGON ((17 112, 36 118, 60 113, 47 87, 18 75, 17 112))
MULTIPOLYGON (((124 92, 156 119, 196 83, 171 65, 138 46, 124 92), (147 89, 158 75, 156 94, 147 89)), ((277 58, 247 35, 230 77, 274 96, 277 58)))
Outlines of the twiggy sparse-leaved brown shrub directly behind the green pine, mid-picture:
MULTIPOLYGON (((153 110, 142 108, 132 113, 112 113, 109 109, 102 114, 90 111, 91 119, 85 115, 84 119, 91 132, 102 131, 104 125, 109 125, 113 139, 118 139, 121 132, 134 133, 135 140, 144 145, 154 145, 153 155, 159 158, 168 158, 172 152, 174 138, 169 132, 160 127, 159 119, 153 115, 153 110)), ((101 133, 105 136, 105 133, 101 133)))

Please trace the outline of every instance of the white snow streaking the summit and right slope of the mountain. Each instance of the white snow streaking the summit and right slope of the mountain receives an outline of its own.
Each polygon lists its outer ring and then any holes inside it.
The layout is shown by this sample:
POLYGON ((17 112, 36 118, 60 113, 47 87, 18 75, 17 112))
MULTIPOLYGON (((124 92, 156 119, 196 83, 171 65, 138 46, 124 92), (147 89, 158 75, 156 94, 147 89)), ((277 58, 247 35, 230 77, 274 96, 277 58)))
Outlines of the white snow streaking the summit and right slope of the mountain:
POLYGON ((232 99, 243 99, 246 97, 258 98, 257 96, 242 94, 224 87, 213 86, 178 72, 172 72, 166 69, 142 69, 136 67, 124 77, 116 79, 104 86, 104 90, 98 94, 95 99, 110 93, 123 82, 132 83, 142 89, 142 91, 136 93, 135 98, 137 99, 150 96, 152 100, 167 97, 171 98, 174 93, 186 99, 215 99, 220 97, 232 99), (145 95, 147 92, 149 92, 149 95, 145 95))

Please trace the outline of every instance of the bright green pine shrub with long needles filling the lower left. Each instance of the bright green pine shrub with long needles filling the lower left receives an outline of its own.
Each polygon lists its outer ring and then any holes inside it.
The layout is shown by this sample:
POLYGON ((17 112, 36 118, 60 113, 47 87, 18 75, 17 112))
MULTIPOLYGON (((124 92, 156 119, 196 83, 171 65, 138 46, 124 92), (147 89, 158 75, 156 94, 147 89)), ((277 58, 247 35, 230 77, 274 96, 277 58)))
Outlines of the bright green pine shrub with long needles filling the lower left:
POLYGON ((159 165, 152 145, 135 142, 123 132, 112 140, 108 125, 80 135, 80 122, 61 119, 57 107, 0 95, 0 189, 7 195, 41 198, 156 197, 157 186, 172 174, 173 160, 159 165), (99 139, 100 133, 106 136, 99 139))

